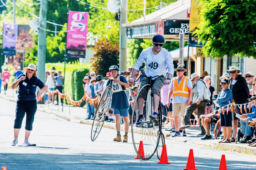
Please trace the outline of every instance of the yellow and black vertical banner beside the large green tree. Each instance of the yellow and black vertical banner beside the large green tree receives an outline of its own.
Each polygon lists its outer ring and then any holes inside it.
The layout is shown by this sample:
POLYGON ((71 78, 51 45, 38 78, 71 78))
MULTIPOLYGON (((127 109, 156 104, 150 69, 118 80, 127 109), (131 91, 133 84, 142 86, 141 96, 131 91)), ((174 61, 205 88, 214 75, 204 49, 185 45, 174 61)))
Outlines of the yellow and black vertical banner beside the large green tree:
POLYGON ((198 44, 198 37, 192 33, 198 29, 198 25, 200 23, 200 15, 199 11, 201 10, 201 6, 197 0, 191 0, 191 8, 190 8, 190 19, 189 19, 189 43, 190 47, 203 47, 203 43, 200 42, 198 44))

